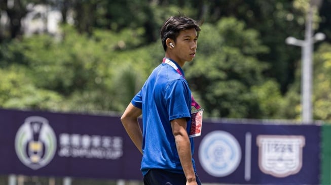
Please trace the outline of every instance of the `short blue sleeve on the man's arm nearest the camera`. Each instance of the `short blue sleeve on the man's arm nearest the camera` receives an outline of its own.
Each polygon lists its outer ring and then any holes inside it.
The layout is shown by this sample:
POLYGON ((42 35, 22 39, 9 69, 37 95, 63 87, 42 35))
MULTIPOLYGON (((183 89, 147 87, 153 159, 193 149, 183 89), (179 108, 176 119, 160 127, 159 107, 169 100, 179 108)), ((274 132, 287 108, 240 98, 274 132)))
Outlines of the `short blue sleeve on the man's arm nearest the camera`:
POLYGON ((169 121, 178 118, 191 119, 191 91, 186 81, 174 80, 165 90, 169 121))

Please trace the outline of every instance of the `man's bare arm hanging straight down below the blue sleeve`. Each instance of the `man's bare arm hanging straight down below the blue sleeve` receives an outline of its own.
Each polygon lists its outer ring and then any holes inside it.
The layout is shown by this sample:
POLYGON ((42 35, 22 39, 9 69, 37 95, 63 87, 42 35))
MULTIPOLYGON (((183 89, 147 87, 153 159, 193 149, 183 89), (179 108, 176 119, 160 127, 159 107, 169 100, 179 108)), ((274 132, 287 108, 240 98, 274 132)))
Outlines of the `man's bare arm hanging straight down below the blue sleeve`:
POLYGON ((186 126, 186 118, 171 121, 172 133, 175 137, 179 160, 187 179, 186 184, 197 184, 192 164, 191 143, 186 131, 186 126))

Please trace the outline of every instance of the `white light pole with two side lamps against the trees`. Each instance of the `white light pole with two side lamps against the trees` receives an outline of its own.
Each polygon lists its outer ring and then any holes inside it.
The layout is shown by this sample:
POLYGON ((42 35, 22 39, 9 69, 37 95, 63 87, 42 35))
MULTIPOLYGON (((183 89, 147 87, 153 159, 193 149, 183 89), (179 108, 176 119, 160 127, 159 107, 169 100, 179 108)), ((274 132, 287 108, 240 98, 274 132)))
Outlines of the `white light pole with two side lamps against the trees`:
POLYGON ((302 48, 302 73, 301 73, 301 119, 303 124, 310 124, 313 121, 312 114, 312 76, 313 76, 313 43, 324 40, 324 33, 316 33, 313 36, 312 29, 313 8, 310 5, 306 19, 305 40, 295 37, 287 37, 285 42, 290 45, 297 45, 302 48))

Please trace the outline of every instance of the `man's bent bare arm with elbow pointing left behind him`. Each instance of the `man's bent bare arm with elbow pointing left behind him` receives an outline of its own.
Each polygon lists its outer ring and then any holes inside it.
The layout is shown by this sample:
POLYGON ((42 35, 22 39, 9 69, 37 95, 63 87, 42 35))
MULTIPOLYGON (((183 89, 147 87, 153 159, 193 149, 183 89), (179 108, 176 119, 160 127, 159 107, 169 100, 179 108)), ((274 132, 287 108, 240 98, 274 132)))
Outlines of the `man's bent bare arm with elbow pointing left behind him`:
POLYGON ((142 132, 138 122, 140 115, 141 109, 130 103, 121 117, 121 122, 132 142, 142 154, 142 132))

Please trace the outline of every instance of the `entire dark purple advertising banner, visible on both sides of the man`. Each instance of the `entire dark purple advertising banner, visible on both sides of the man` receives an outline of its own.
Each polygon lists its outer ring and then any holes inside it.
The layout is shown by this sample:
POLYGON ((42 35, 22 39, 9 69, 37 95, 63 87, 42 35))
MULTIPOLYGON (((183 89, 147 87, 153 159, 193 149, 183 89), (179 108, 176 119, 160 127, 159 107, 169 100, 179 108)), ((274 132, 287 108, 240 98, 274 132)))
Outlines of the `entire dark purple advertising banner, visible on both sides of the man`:
MULTIPOLYGON (((317 125, 204 119, 195 137, 203 182, 319 184, 317 125)), ((0 109, 0 174, 142 179, 120 117, 0 109)))

